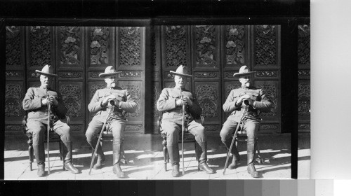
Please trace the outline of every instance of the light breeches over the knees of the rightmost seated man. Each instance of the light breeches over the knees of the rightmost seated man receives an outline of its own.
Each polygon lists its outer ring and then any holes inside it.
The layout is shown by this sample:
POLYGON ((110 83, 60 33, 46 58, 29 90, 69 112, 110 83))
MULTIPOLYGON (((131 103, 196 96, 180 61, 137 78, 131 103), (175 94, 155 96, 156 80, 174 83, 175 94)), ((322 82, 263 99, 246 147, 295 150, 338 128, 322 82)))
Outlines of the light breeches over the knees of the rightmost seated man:
MULTIPOLYGON (((223 124, 222 130, 220 130, 220 139, 225 142, 227 139, 232 137, 235 130, 237 129, 238 123, 234 120, 227 119, 223 124)), ((255 141, 260 123, 257 120, 247 119, 243 121, 242 128, 246 131, 247 139, 249 141, 255 141)))

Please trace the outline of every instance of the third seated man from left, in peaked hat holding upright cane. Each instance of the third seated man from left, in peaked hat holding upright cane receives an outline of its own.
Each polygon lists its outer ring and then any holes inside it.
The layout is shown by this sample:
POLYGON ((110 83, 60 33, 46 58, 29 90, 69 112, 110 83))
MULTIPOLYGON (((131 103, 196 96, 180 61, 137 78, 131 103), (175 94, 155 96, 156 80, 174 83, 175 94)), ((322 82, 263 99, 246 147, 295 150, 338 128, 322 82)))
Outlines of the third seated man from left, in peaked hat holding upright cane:
POLYGON ((207 161, 207 138, 205 127, 195 122, 194 118, 201 115, 202 110, 196 99, 194 99, 191 92, 185 90, 187 84, 187 70, 185 66, 180 65, 175 71, 171 71, 174 74, 174 81, 176 87, 165 88, 162 90, 159 100, 157 101, 157 109, 164 112, 162 116, 161 127, 163 132, 166 132, 167 136, 167 148, 169 158, 171 159, 172 165, 172 176, 180 176, 179 172, 179 133, 182 129, 183 109, 185 105, 185 123, 187 123, 187 130, 194 135, 195 140, 201 147, 201 155, 199 160, 200 169, 208 174, 213 174, 213 170, 206 164, 207 161))

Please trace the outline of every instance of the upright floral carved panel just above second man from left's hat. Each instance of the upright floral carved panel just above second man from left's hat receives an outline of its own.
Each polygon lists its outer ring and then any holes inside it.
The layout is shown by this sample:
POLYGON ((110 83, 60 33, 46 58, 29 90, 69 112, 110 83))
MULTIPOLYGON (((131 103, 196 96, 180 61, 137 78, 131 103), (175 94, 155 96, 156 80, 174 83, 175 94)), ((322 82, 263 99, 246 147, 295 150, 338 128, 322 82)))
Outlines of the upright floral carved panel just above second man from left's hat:
POLYGON ((90 31, 90 63, 108 64, 110 55, 110 27, 93 27, 90 31))

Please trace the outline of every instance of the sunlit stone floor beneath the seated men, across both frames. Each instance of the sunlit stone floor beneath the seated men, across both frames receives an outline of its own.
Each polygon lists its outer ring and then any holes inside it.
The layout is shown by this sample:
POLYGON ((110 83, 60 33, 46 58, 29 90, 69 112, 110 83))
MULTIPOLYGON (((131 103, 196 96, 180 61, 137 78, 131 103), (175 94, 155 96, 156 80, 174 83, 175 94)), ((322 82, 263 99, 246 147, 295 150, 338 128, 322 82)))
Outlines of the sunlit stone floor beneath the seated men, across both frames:
MULTIPOLYGON (((262 134, 260 135, 260 153, 264 162, 256 163, 256 169, 263 179, 291 178, 291 142, 290 134, 262 134)), ((73 164, 81 169, 81 174, 71 174, 62 171, 62 161, 59 157, 58 145, 50 146, 51 174, 44 177, 37 176, 37 164, 33 163, 33 170, 29 169, 27 139, 24 135, 6 135, 4 152, 5 180, 112 180, 117 179, 112 172, 112 144, 107 142, 103 149, 106 164, 102 169, 92 169, 88 174, 91 162, 91 148, 85 141, 85 136, 74 135, 73 164)), ((298 179, 310 178, 310 134, 299 134, 298 151, 298 179)), ((246 172, 246 144, 239 143, 241 155, 240 165, 236 169, 226 169, 226 149, 217 135, 208 136, 208 165, 216 174, 206 174, 197 171, 197 161, 194 157, 194 146, 185 144, 185 175, 179 178, 171 177, 171 165, 164 169, 164 158, 161 137, 152 134, 128 134, 125 136, 125 153, 128 164, 121 168, 128 174, 128 179, 252 179, 246 172)), ((180 151, 181 152, 181 151, 180 151)), ((181 155, 181 153, 180 153, 181 155)), ((180 157, 181 160, 181 157, 180 157)), ((47 159, 46 159, 47 165, 47 159)), ((46 167, 47 171, 47 167, 46 167)), ((182 162, 180 162, 182 171, 182 162)), ((126 180, 128 180, 126 179, 126 180)))

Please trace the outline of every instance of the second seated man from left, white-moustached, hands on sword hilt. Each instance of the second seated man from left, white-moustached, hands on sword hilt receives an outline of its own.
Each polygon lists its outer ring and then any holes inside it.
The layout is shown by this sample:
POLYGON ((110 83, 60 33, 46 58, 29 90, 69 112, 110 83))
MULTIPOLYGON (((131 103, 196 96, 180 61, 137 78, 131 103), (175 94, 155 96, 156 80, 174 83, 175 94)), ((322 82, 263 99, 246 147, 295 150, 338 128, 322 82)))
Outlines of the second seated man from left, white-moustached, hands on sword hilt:
MULTIPOLYGON (((97 90, 88 105, 89 111, 96 114, 86 130, 86 141, 91 145, 91 148, 95 149, 99 133, 107 120, 107 129, 110 129, 113 135, 113 172, 122 179, 126 178, 126 174, 122 172, 119 165, 124 127, 126 127, 126 118, 124 116, 127 112, 134 113, 138 108, 138 104, 133 101, 128 90, 116 85, 116 75, 118 73, 121 73, 121 71, 116 72, 112 66, 107 66, 105 73, 99 74, 99 77, 105 78, 106 88, 97 90), (112 116, 106 119, 110 109, 112 109, 111 104, 114 105, 114 111, 112 111, 112 116)), ((93 169, 100 169, 105 162, 105 155, 101 146, 98 147, 96 154, 98 155, 98 160, 93 169)))

